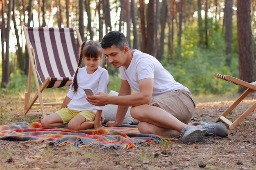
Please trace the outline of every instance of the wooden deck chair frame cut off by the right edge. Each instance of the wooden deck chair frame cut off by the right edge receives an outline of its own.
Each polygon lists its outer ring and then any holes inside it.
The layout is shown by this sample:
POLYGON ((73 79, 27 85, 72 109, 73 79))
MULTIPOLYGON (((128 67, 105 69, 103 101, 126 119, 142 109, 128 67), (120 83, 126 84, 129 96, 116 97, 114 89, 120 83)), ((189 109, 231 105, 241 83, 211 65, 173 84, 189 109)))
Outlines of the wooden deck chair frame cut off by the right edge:
POLYGON ((236 106, 238 106, 238 104, 240 102, 242 102, 242 100, 249 95, 249 93, 251 93, 252 91, 256 91, 256 82, 245 82, 241 79, 237 79, 235 77, 232 77, 230 75, 222 75, 219 73, 214 73, 215 77, 218 77, 220 79, 224 79, 228 82, 231 82, 233 84, 236 84, 238 86, 243 86, 245 88, 247 88, 247 90, 240 95, 240 97, 238 97, 238 99, 236 99, 236 101, 229 106, 229 108, 227 108, 227 110, 225 110, 220 117, 218 117, 218 120, 222 120, 223 122, 225 122, 226 124, 229 125, 229 129, 234 129, 236 128, 236 126, 238 126, 238 124, 240 124, 241 121, 243 121, 243 119, 245 119, 250 113, 252 113, 252 111, 254 111, 254 109, 256 108, 256 102, 254 104, 252 104, 249 108, 247 108, 247 110, 245 110, 245 112, 243 112, 235 121, 231 122, 229 119, 226 118, 226 116, 234 109, 236 108, 236 106))

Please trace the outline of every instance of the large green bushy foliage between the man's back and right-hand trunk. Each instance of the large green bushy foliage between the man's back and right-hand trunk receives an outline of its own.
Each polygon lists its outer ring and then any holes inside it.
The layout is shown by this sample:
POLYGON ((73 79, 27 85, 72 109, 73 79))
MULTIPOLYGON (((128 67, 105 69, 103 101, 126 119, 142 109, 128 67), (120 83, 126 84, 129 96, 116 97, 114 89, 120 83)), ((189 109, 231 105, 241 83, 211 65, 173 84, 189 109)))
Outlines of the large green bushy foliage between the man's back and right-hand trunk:
POLYGON ((212 32, 208 49, 194 46, 193 37, 191 35, 187 37, 189 38, 182 46, 180 60, 170 61, 165 58, 162 61, 174 79, 188 87, 193 95, 237 92, 236 85, 214 77, 216 72, 235 77, 238 75, 237 54, 232 54, 231 68, 225 66, 225 42, 220 33, 212 32))

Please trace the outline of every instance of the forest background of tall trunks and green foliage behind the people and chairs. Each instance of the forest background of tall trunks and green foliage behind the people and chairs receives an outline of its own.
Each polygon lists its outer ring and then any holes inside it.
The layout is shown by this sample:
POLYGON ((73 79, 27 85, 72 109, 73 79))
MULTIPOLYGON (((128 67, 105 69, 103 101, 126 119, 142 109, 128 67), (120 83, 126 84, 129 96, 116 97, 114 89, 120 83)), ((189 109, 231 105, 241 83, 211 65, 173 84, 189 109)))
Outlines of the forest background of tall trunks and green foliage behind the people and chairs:
MULTIPOLYGON (((1 0, 0 92, 27 87, 22 26, 79 27, 82 40, 123 32, 131 48, 155 56, 193 95, 243 92, 213 76, 256 80, 256 0, 1 0)), ((119 90, 108 66, 109 90, 119 90)))

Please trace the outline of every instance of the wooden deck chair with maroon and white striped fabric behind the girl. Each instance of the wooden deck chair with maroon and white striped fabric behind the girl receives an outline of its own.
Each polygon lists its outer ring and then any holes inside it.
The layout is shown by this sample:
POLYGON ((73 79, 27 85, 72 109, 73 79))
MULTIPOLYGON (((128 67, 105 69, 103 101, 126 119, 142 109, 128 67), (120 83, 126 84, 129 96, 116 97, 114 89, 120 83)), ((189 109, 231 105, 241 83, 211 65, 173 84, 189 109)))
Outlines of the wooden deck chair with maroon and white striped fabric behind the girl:
POLYGON ((25 114, 46 116, 44 106, 61 105, 60 102, 43 102, 45 88, 70 86, 77 69, 82 39, 78 28, 47 28, 23 26, 29 55, 28 88, 25 92, 25 114), (76 33, 76 34, 75 34, 76 33), (75 35, 79 43, 76 48, 75 35), (36 84, 36 95, 31 95, 32 73, 36 84), (39 81, 42 85, 39 85, 39 81), (39 103, 36 103, 36 100, 39 103), (32 106, 40 106, 41 112, 29 112, 32 106))

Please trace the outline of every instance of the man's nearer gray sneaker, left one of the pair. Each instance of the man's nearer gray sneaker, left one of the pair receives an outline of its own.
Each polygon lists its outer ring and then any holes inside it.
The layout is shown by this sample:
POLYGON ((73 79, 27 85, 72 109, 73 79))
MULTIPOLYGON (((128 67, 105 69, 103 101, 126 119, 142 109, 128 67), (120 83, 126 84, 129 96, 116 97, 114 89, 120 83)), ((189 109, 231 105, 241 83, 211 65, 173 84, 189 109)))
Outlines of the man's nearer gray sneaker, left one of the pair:
POLYGON ((196 141, 201 141, 206 133, 206 129, 200 129, 195 126, 187 126, 182 128, 182 142, 184 144, 195 143, 196 141))

